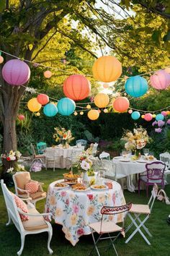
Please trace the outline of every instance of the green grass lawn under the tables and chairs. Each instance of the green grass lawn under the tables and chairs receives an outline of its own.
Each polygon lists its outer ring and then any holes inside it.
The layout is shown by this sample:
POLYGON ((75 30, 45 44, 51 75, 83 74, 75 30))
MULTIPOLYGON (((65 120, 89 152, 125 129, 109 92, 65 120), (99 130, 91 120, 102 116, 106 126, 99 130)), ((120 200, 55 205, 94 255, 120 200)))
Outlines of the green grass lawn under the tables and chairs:
MULTIPOLYGON (((66 170, 55 170, 53 171, 41 171, 37 173, 31 173, 32 179, 44 182, 44 190, 47 191, 48 185, 62 178, 62 174, 66 170)), ((14 187, 10 188, 14 192, 14 187)), ((170 195, 170 185, 166 186, 166 194, 170 195)), ((127 202, 131 201, 134 203, 146 204, 148 199, 146 198, 146 192, 141 192, 140 197, 137 192, 131 193, 125 190, 124 192, 125 199, 127 202)), ((44 210, 45 200, 42 202, 37 202, 37 210, 41 213, 44 210)), ((160 202, 156 200, 153 205, 153 212, 151 218, 146 222, 152 238, 149 238, 151 245, 149 246, 140 236, 136 234, 133 239, 125 244, 125 239, 122 236, 117 239, 115 246, 117 248, 118 254, 121 255, 138 255, 138 256, 166 256, 169 255, 169 244, 170 244, 170 226, 166 223, 166 218, 170 214, 170 205, 166 205, 165 202, 160 202)), ((129 220, 128 220, 129 221, 129 220)), ((127 221, 127 225, 128 225, 127 221)), ((0 255, 1 256, 11 256, 16 255, 17 251, 20 249, 20 237, 19 232, 13 224, 5 226, 7 222, 6 215, 6 206, 4 204, 4 197, 0 189, 0 255)), ((68 240, 65 239, 61 226, 56 225, 52 222, 53 225, 53 238, 51 240, 51 248, 53 249, 53 255, 88 255, 88 252, 93 247, 93 242, 91 235, 81 236, 79 242, 73 247, 68 240)), ((128 232, 127 237, 129 236, 131 230, 128 232)), ((43 256, 48 255, 47 249, 48 234, 35 234, 26 236, 24 250, 22 255, 25 256, 43 256)), ((94 251, 93 255, 97 255, 94 251)), ((112 247, 110 247, 107 252, 102 249, 101 255, 115 255, 112 247)))

